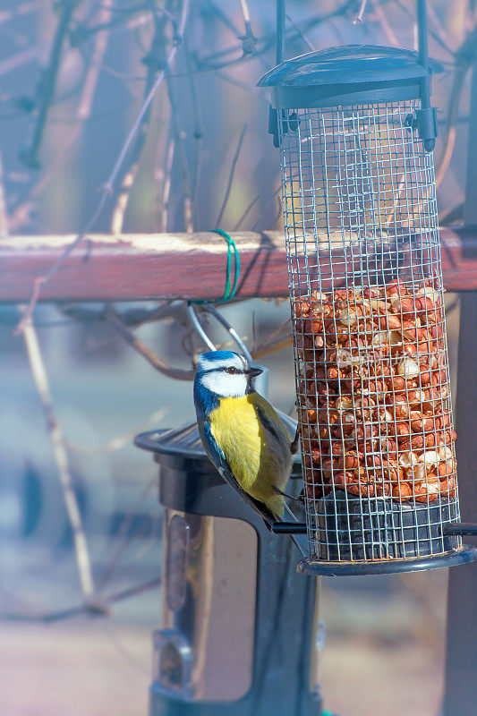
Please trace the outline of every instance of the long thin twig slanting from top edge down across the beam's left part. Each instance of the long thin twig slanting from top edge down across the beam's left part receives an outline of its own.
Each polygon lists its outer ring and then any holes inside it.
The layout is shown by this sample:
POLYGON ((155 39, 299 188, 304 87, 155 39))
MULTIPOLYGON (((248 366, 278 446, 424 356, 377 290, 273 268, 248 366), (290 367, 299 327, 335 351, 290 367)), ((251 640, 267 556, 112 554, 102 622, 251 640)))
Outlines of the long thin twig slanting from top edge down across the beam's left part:
MULTIPOLYGON (((183 29, 185 26, 185 21, 187 18, 187 9, 189 6, 189 0, 183 0, 183 7, 182 7, 182 14, 181 14, 181 21, 179 22, 179 31, 181 33, 181 36, 183 35, 183 29)), ((82 229, 80 234, 76 236, 76 238, 70 243, 69 246, 67 246, 63 252, 63 254, 60 256, 60 258, 55 261, 55 264, 47 271, 47 274, 45 276, 38 276, 35 278, 33 282, 33 291, 30 298, 30 303, 28 304, 24 316, 20 323, 18 324, 17 328, 14 331, 15 336, 19 336, 21 334, 21 331, 26 325, 27 320, 30 319, 30 316, 35 308, 35 305, 38 302, 38 298, 41 291, 41 286, 46 284, 53 276, 55 276, 56 271, 61 268, 64 264, 64 261, 68 258, 68 256, 71 254, 71 252, 81 243, 81 241, 85 238, 87 234, 89 234, 89 231, 91 230, 92 226, 96 224, 98 221, 98 217, 102 213, 104 206, 106 204, 106 200, 109 199, 109 197, 113 193, 113 187, 115 184, 115 180, 117 175, 119 174, 119 171, 121 169, 121 166, 123 166, 124 158, 127 154, 128 149, 131 146, 132 140, 134 139, 134 136, 136 135, 136 132, 138 131, 139 127, 141 126, 142 118, 146 114, 146 112, 149 109, 149 105, 152 102, 152 99, 156 95, 156 92, 158 91, 158 88, 160 87, 162 81, 164 80, 165 73, 167 67, 173 62, 175 55, 177 53, 177 49, 179 47, 179 42, 172 47, 166 62, 166 67, 164 70, 158 73, 158 77, 156 81, 154 82, 154 85, 152 86, 148 97, 144 100, 141 110, 139 114, 137 115, 134 124, 132 124, 132 128, 129 132, 129 134, 126 137, 126 140, 124 141, 123 147, 121 148, 121 151, 119 153, 118 158, 115 161, 115 166, 113 166, 113 169, 111 171, 111 174, 108 176, 106 183, 102 186, 100 192, 101 196, 98 201, 98 207, 96 211, 94 212, 93 216, 90 217, 89 221, 87 222, 86 226, 82 229)))

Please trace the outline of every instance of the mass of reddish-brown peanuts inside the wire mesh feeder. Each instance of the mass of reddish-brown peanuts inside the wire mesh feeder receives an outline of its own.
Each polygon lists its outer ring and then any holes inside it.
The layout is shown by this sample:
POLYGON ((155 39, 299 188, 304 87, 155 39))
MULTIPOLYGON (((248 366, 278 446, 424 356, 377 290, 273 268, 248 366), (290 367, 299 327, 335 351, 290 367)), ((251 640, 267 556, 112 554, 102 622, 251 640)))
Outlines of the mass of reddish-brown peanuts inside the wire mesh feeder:
POLYGON ((356 496, 430 502, 455 494, 439 295, 433 279, 417 294, 396 279, 313 291, 292 304, 314 498, 331 481, 356 496))

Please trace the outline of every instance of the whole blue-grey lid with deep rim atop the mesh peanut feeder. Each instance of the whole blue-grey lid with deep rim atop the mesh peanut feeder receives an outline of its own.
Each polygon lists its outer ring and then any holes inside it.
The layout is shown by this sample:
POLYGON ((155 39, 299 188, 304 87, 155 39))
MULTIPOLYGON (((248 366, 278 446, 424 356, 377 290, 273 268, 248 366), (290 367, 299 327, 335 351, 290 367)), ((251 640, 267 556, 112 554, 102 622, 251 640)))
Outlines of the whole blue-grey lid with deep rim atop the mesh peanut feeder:
MULTIPOLYGON (((442 72, 429 61, 429 72, 442 72)), ((417 52, 397 47, 348 45, 300 55, 264 74, 274 107, 321 107, 419 97, 427 74, 417 52)))

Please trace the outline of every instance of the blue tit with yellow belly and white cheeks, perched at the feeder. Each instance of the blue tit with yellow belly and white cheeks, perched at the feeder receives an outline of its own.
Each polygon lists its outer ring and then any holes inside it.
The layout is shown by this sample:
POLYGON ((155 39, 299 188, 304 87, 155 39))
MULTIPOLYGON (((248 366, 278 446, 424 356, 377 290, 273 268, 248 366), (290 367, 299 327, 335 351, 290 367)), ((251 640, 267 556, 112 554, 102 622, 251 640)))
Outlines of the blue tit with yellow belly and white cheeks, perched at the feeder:
POLYGON ((201 354, 194 379, 200 438, 226 482, 270 524, 284 515, 292 447, 283 422, 255 390, 261 370, 230 351, 201 354))

